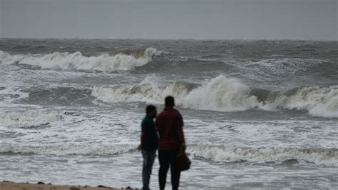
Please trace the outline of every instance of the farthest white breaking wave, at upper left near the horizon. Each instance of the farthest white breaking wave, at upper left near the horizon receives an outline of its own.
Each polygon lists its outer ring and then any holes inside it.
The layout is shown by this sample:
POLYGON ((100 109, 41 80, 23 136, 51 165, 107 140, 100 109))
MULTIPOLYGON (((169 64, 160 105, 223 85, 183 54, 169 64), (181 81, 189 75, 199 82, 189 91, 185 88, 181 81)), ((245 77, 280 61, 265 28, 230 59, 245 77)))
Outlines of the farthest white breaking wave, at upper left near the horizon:
POLYGON ((11 55, 0 51, 2 64, 26 64, 39 66, 41 69, 78 70, 78 71, 116 71, 128 70, 147 64, 155 54, 156 49, 119 51, 114 55, 83 56, 81 52, 53 54, 18 54, 11 55))

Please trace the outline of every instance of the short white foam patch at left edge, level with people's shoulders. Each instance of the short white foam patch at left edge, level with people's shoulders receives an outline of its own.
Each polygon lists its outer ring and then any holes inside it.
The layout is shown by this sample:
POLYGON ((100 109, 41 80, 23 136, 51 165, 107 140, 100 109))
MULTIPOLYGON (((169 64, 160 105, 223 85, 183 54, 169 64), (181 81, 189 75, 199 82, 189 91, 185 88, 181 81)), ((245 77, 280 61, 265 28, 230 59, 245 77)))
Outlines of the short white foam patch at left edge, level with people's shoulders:
POLYGON ((58 111, 24 111, 22 113, 9 113, 0 117, 0 126, 10 128, 31 128, 48 124, 51 121, 62 119, 58 111))

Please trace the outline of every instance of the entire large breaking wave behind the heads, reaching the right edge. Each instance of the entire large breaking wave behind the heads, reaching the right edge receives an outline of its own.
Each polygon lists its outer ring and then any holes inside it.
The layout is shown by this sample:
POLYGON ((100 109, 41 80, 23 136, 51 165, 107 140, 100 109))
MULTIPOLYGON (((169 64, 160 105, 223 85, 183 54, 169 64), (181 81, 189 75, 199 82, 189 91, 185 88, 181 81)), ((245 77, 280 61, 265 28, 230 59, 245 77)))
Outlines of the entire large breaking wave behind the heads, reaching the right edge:
POLYGON ((338 117, 338 86, 320 88, 299 86, 286 91, 253 89, 237 79, 217 76, 206 84, 183 83, 161 85, 146 78, 140 84, 96 86, 91 96, 106 102, 143 101, 162 104, 165 96, 175 96, 179 106, 212 111, 262 109, 307 110, 313 116, 338 117))

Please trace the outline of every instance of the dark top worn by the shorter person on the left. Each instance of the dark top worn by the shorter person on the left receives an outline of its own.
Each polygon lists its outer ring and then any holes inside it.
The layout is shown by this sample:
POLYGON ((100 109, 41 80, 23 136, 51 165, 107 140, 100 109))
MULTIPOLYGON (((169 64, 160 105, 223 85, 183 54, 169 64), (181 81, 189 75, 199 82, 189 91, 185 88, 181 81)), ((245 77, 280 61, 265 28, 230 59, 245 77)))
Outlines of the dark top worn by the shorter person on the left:
POLYGON ((143 150, 156 150, 158 149, 158 133, 155 129, 154 120, 145 116, 142 124, 142 133, 145 134, 142 144, 143 150))

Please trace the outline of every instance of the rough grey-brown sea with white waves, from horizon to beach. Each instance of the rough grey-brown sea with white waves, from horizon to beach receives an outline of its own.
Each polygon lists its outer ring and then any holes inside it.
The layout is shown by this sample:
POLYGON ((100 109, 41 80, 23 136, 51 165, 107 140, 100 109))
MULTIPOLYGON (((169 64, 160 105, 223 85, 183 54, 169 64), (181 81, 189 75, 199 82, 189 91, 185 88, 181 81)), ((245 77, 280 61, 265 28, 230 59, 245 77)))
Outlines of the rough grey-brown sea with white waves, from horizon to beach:
POLYGON ((180 187, 338 186, 338 41, 0 39, 0 81, 1 181, 141 188, 140 121, 172 95, 180 187))

